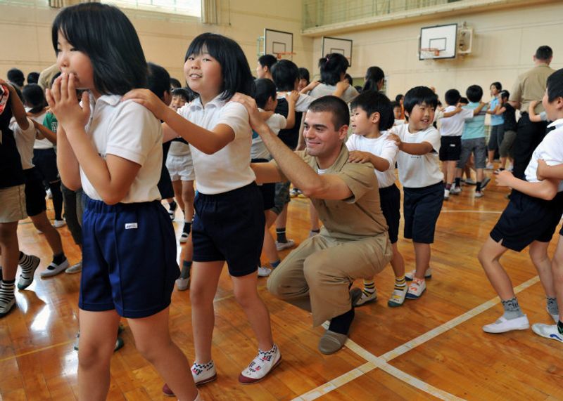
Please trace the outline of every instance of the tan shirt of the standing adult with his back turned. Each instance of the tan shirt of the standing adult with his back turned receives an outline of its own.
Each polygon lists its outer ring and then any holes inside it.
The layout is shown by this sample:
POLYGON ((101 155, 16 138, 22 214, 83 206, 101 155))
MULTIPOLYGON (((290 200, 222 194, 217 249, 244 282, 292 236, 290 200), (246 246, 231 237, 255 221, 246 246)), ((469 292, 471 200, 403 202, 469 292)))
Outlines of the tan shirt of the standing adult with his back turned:
MULTIPOLYGON (((521 74, 510 92, 510 101, 520 103, 520 112, 528 112, 533 100, 542 100, 547 86, 548 77, 555 70, 548 65, 536 65, 531 70, 521 74)), ((536 113, 543 112, 543 105, 538 103, 534 109, 536 113)))

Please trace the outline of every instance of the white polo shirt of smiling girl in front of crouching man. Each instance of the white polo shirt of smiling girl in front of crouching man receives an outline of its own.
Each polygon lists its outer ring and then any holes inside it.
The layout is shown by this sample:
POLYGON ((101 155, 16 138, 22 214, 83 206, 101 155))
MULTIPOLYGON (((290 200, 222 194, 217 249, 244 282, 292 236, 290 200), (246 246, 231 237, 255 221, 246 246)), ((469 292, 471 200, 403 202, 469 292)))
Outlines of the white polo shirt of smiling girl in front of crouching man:
POLYGON ((209 131, 218 124, 225 124, 234 131, 234 140, 213 155, 206 155, 189 145, 198 192, 205 195, 236 190, 256 179, 251 169, 252 130, 248 123, 248 112, 241 103, 220 100, 220 96, 205 107, 197 98, 178 110, 182 117, 209 131))

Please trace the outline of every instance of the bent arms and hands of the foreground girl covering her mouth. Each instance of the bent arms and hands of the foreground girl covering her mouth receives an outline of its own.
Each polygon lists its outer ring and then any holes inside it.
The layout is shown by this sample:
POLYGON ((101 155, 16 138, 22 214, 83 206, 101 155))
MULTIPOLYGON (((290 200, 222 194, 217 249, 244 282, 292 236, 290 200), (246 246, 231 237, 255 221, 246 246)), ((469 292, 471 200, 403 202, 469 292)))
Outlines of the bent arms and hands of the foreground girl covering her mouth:
MULTIPOLYGON (((79 173, 78 181, 80 182, 80 172, 77 171, 77 164, 80 164, 103 202, 106 204, 120 202, 129 192, 141 166, 115 155, 108 154, 105 160, 100 157, 84 129, 90 117, 89 93, 82 93, 82 107, 80 107, 76 97, 74 75, 62 74, 56 79, 51 90, 47 91, 46 98, 70 144, 70 147, 64 149, 68 160, 58 159, 62 162, 58 164, 59 168, 66 169, 65 164, 70 165, 69 176, 73 180, 72 188, 69 188, 77 189, 75 175, 79 173), (70 150, 74 151, 77 164, 72 160, 70 150)), ((58 136, 60 138, 59 147, 65 142, 65 140, 61 140, 63 137, 63 135, 58 136)))

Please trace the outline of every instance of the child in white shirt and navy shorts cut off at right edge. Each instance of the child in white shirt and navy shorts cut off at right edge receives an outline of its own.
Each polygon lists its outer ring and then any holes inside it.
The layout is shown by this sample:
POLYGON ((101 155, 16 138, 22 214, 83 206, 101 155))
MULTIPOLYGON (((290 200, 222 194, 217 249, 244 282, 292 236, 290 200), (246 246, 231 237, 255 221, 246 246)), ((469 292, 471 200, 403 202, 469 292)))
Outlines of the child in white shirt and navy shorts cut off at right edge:
MULTIPOLYGON (((500 264, 500 257, 508 249, 519 252, 526 246, 529 246, 531 261, 538 270, 545 291, 548 314, 559 324, 559 313, 562 309, 558 308, 557 294, 563 297, 561 271, 557 268, 555 272, 556 287, 548 246, 563 212, 563 182, 561 176, 550 174, 548 171, 557 169, 555 166, 558 164, 563 164, 563 70, 557 70, 548 78, 543 106, 548 118, 554 121, 551 126, 554 126, 555 130, 550 131, 533 151, 524 171, 525 180, 514 177, 510 171, 501 171, 498 174, 498 185, 511 187, 512 195, 505 211, 491 230, 491 235, 479 251, 479 262, 500 298, 504 314, 496 322, 483 326, 486 333, 504 333, 529 328, 528 317, 520 309, 510 277, 500 264), (548 171, 538 171, 540 160, 554 167, 545 169, 548 171), (550 178, 545 178, 546 172, 550 178)), ((545 327, 541 324, 534 328, 534 332, 541 336, 556 334, 561 337, 559 331, 554 328, 557 327, 545 327)), ((559 341, 562 339, 559 338, 559 341)))

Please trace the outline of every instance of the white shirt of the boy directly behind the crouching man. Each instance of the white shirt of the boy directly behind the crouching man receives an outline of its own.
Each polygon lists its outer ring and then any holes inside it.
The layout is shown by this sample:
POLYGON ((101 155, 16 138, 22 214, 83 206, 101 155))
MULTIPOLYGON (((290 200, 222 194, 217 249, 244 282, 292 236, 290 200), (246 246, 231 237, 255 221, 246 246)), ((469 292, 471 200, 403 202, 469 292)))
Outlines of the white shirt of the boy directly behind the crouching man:
POLYGON ((382 131, 379 138, 366 138, 361 135, 350 136, 346 141, 346 147, 350 152, 360 150, 386 159, 389 162, 389 168, 386 171, 374 169, 377 184, 381 189, 391 187, 395 183, 395 163, 397 162, 399 148, 392 140, 389 140, 387 131, 382 131))

